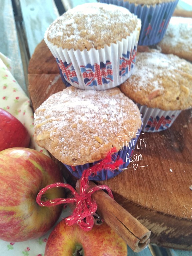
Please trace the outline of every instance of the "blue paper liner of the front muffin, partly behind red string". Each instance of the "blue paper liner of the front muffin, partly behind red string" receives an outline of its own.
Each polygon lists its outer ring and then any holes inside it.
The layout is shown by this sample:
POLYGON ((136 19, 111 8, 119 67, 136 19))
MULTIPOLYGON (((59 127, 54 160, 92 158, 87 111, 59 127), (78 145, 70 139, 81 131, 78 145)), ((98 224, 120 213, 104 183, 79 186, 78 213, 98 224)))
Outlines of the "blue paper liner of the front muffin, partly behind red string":
MULTIPOLYGON (((118 175, 119 173, 121 173, 124 169, 126 168, 128 165, 129 165, 129 159, 130 159, 130 156, 132 155, 134 149, 135 149, 135 146, 137 145, 137 139, 139 138, 139 135, 140 135, 140 132, 141 132, 141 129, 142 129, 142 126, 141 128, 137 131, 136 133, 136 138, 133 138, 131 139, 130 143, 129 143, 129 147, 127 146, 126 148, 126 145, 124 144, 124 149, 125 150, 121 150, 121 151, 118 151, 114 154, 112 154, 112 159, 113 161, 115 161, 117 159, 117 157, 120 157, 123 159, 123 165, 119 166, 119 169, 117 170, 114 170, 114 171, 111 171, 110 169, 107 169, 107 170, 102 170, 100 172, 97 172, 97 175, 94 175, 94 176, 89 176, 89 180, 95 180, 95 181, 99 181, 99 180, 108 180, 108 179, 111 179, 113 177, 115 177, 116 175, 118 175), (127 155, 128 154, 128 155, 127 155), (128 160, 127 160, 127 156, 129 156, 128 160)), ((129 133, 131 134, 131 133, 129 133)), ((131 136, 131 135, 130 135, 131 136)), ((77 166, 70 166, 70 165, 66 165, 64 164, 67 169, 77 178, 77 179, 80 179, 81 176, 82 176, 82 173, 85 169, 97 164, 98 162, 100 161, 96 161, 94 163, 87 163, 87 164, 84 164, 84 165, 77 165, 77 166)))

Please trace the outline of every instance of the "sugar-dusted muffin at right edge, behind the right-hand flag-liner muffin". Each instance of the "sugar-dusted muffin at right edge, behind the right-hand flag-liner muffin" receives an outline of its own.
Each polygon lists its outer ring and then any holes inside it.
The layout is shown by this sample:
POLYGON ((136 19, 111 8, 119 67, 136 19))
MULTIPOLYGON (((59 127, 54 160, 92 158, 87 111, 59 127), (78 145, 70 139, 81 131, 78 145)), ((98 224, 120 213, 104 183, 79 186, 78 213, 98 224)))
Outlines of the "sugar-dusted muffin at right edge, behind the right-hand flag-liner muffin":
POLYGON ((158 46, 162 53, 192 61, 192 18, 172 17, 158 46))

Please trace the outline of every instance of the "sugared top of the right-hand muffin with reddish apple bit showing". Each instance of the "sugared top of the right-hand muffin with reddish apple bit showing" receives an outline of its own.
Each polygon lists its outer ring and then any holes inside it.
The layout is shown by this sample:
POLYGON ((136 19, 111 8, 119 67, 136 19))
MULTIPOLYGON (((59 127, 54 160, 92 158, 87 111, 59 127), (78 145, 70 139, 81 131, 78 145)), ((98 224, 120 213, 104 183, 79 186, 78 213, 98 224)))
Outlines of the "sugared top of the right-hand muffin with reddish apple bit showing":
POLYGON ((120 89, 147 107, 188 109, 192 107, 192 64, 172 54, 138 52, 132 76, 120 89))

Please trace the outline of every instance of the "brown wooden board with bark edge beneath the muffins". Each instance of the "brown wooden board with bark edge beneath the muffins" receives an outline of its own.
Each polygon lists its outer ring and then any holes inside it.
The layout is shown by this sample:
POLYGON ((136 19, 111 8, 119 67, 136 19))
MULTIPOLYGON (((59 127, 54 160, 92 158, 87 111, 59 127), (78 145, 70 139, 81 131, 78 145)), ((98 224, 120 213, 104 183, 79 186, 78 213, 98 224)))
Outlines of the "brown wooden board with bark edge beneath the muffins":
MULTIPOLYGON (((65 88, 44 41, 32 55, 28 72, 34 111, 65 88)), ((168 130, 145 133, 139 139, 130 168, 100 183, 108 185, 115 200, 151 230, 151 243, 192 250, 192 110, 183 111, 168 130)), ((74 186, 76 179, 54 160, 74 186)))

